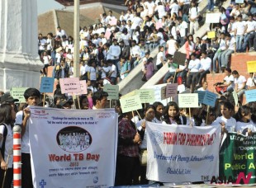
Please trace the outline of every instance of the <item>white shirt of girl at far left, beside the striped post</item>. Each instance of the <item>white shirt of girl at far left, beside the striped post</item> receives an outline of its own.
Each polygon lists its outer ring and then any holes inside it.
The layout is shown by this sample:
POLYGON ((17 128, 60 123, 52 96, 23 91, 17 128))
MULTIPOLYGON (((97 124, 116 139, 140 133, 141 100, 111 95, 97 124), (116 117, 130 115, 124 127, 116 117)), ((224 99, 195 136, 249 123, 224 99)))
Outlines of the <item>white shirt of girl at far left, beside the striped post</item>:
MULTIPOLYGON (((0 126, 0 134, 4 133, 4 129, 7 129, 7 137, 5 140, 5 150, 4 150, 4 161, 7 162, 7 157, 8 157, 8 153, 9 150, 12 151, 13 149, 13 133, 12 133, 12 127, 11 125, 7 125, 6 124, 6 128, 4 125, 0 126)), ((0 140, 0 146, 2 147, 2 141, 3 141, 3 137, 0 140)), ((13 162, 13 154, 9 153, 9 159, 8 159, 8 168, 12 168, 12 162, 13 162)))

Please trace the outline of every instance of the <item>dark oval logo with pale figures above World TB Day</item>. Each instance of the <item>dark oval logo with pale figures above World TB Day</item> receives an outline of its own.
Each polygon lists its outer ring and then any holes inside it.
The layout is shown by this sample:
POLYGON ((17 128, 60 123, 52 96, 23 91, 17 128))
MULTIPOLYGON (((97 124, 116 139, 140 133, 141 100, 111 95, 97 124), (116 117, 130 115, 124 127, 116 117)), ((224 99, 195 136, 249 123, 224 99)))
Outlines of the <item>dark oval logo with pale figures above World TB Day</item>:
POLYGON ((79 153, 92 144, 92 136, 86 129, 76 126, 65 127, 59 130, 56 140, 65 152, 79 153))

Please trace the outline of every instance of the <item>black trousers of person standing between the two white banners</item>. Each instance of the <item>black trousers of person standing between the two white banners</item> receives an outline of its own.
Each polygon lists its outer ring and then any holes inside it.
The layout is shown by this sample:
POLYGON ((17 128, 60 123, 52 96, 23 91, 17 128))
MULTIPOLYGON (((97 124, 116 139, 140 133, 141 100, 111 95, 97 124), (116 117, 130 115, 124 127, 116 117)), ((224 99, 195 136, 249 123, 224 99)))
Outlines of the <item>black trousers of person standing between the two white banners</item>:
POLYGON ((140 176, 139 157, 116 157, 115 186, 138 185, 140 176))

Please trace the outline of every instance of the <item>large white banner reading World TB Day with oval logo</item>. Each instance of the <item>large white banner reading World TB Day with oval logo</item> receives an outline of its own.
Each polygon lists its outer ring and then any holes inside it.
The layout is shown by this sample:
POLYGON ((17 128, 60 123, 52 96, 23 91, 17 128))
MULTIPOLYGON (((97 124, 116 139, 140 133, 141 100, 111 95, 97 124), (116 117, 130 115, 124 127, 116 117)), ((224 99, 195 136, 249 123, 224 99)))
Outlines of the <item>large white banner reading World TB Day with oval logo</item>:
POLYGON ((109 187, 116 172, 115 110, 31 107, 34 187, 109 187))

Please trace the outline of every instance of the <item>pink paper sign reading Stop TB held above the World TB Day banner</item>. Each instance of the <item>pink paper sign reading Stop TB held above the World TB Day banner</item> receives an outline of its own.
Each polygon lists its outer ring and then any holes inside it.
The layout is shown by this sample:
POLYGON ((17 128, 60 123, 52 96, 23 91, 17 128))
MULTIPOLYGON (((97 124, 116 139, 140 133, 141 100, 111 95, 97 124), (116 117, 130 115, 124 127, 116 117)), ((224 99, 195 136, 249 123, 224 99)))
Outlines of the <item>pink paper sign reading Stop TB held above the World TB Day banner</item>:
POLYGON ((79 78, 60 78, 59 85, 62 94, 81 92, 79 78))

